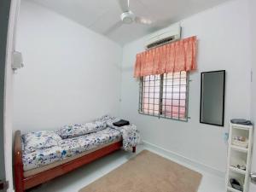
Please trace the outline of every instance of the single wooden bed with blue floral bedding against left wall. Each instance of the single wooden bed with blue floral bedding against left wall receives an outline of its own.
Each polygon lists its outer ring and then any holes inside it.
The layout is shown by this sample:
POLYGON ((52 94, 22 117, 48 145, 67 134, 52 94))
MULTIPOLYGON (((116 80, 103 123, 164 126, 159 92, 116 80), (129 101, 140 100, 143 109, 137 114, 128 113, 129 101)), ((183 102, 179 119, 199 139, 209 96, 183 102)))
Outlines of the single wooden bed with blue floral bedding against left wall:
MULTIPOLYGON (((26 137, 21 135, 20 131, 15 132, 15 191, 24 192, 26 189, 31 189, 38 184, 45 183, 55 177, 59 177, 67 172, 79 168, 90 163, 93 160, 99 159, 107 154, 113 153, 120 148, 123 148, 125 138, 125 128, 121 130, 112 126, 108 122, 106 127, 75 137, 67 137, 58 140, 57 145, 52 145, 49 148, 31 148, 24 141, 26 137)), ((77 134, 79 129, 72 132, 77 134)), ((86 126, 88 127, 88 126, 86 126)), ((65 134, 67 129, 64 131, 65 134)), ((127 127, 126 127, 127 129, 127 127)), ((88 129, 86 128, 86 131, 88 129)), ((47 132, 47 138, 50 131, 47 132)), ((132 132, 132 131, 131 131, 132 132)), ((61 132, 63 133, 63 131, 61 132)), ((34 134, 34 133, 33 133, 34 134)), ((42 132, 37 132, 36 138, 42 138, 42 132)), ((46 134, 46 135, 47 135, 46 134)), ((132 132, 134 135, 134 132, 132 132)), ((44 132, 45 135, 45 132, 44 132)), ((129 135, 129 134, 128 134, 129 135)), ((33 136, 33 135, 32 135, 33 136)), ((31 135, 29 135, 29 138, 31 135)), ((129 137, 131 138, 131 136, 129 137)), ((54 138, 55 139, 55 138, 54 138)), ((30 141, 28 139, 28 141, 30 141)), ((35 143, 35 142, 33 142, 35 143)), ((42 143, 39 143, 42 144, 42 143)), ((46 144, 49 144, 47 140, 46 144)), ((52 143, 51 143, 52 144, 52 143)), ((44 146, 45 147, 45 146, 44 146)), ((133 153, 136 152, 136 146, 131 147, 133 153)))

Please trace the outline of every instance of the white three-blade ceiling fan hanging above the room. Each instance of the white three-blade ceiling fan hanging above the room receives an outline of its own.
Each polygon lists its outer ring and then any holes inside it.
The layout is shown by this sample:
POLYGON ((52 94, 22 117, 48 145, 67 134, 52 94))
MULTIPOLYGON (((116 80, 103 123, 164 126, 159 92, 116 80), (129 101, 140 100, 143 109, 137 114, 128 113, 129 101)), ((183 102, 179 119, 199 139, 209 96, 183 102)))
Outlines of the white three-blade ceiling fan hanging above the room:
POLYGON ((118 0, 118 1, 119 1, 119 6, 123 11, 123 13, 120 15, 121 20, 119 20, 117 23, 111 26, 108 29, 108 31, 105 32, 106 35, 113 32, 123 24, 131 24, 135 22, 143 25, 151 25, 154 22, 153 20, 149 20, 147 18, 143 18, 135 15, 130 9, 130 0, 118 0))

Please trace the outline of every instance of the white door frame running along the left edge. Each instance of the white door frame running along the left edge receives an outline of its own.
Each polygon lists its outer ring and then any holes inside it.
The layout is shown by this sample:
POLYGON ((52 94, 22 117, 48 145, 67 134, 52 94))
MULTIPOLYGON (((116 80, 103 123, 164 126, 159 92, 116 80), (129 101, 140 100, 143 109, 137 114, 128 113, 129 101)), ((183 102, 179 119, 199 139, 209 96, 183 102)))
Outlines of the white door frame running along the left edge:
POLYGON ((3 143, 5 177, 9 181, 8 192, 13 192, 13 76, 12 58, 15 50, 15 35, 18 15, 20 11, 20 0, 11 0, 9 10, 9 26, 6 44, 5 77, 4 77, 4 98, 3 98, 3 143))

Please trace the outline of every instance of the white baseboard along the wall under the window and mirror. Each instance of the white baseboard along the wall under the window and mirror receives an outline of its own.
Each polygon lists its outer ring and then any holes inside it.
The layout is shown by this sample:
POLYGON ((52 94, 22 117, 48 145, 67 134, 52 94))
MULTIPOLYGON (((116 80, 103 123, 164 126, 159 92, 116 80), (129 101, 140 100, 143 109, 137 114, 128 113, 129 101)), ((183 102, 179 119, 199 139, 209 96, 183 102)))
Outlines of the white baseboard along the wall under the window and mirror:
POLYGON ((163 154, 167 158, 169 158, 173 161, 177 161, 177 163, 182 163, 185 166, 190 166, 189 168, 197 169, 199 172, 204 171, 204 172, 209 172, 218 177, 223 177, 223 178, 225 177, 225 172, 222 172, 222 171, 220 171, 216 168, 213 168, 211 166, 201 164, 200 162, 197 162, 196 160, 190 160, 189 158, 184 157, 183 155, 174 153, 170 150, 167 150, 166 148, 161 148, 160 146, 157 146, 153 143, 149 143, 149 142, 143 140, 143 146, 144 146, 144 148, 153 150, 156 153, 163 154))

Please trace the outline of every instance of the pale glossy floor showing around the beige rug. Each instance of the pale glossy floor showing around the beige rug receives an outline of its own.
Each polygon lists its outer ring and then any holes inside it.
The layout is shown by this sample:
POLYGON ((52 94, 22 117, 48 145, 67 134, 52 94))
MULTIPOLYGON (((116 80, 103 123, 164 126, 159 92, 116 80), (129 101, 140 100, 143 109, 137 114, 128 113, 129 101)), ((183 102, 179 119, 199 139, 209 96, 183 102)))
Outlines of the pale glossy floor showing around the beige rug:
MULTIPOLYGON (((144 147, 137 148, 137 153, 143 150, 144 147)), ((151 148, 147 148, 155 152, 151 148)), ((159 153, 158 153, 159 154, 159 153)), ((118 151, 113 154, 96 160, 87 166, 83 166, 74 172, 70 172, 64 176, 55 178, 53 181, 44 183, 31 192, 77 192, 87 184, 95 181, 97 178, 102 177, 104 174, 112 171, 114 168, 124 164, 129 160, 132 155, 124 151, 118 151)), ((182 164, 182 163, 180 163, 182 164)), ((189 167, 191 168, 191 166, 189 167)), ((195 169, 203 175, 201 186, 198 192, 224 192, 224 178, 217 177, 207 172, 195 169)))

